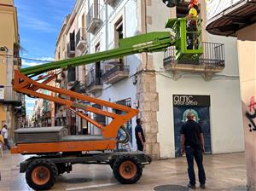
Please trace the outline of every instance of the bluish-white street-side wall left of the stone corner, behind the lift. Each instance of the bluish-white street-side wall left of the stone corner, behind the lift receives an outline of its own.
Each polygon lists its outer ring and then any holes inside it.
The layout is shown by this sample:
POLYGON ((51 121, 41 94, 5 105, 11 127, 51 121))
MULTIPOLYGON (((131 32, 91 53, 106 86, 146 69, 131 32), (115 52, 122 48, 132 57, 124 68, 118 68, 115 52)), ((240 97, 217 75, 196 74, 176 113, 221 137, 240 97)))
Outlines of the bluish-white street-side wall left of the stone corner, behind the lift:
MULTIPOLYGON (((137 2, 136 1, 117 1, 117 6, 112 8, 109 5, 104 5, 105 19, 102 28, 96 35, 90 34, 90 53, 95 52, 96 43, 100 42, 100 51, 114 48, 114 24, 122 16, 124 27, 124 38, 128 38, 137 34, 137 2)), ((126 98, 131 98, 131 102, 136 100, 137 86, 132 84, 133 75, 137 72, 137 67, 140 64, 140 55, 130 55, 125 57, 126 63, 130 66, 129 78, 125 78, 115 84, 103 84, 102 95, 99 99, 106 101, 120 101, 126 98)), ((94 65, 87 66, 87 71, 94 65)), ((136 126, 136 119, 132 119, 133 131, 136 126)), ((98 130, 94 130, 98 133, 98 130)), ((133 132, 133 135, 134 132, 133 132)), ((133 136, 133 148, 136 148, 135 136, 133 136)))

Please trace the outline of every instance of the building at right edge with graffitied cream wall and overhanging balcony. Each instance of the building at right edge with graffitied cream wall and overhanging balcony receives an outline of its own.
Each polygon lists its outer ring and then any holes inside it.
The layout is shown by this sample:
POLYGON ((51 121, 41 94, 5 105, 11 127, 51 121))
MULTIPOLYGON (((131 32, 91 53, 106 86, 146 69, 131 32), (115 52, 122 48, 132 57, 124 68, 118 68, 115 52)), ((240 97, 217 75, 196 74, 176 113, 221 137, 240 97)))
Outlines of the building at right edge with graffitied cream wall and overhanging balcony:
POLYGON ((247 162, 247 188, 256 190, 256 1, 207 2, 207 31, 237 40, 241 106, 247 162), (217 9, 216 9, 217 8, 217 9))

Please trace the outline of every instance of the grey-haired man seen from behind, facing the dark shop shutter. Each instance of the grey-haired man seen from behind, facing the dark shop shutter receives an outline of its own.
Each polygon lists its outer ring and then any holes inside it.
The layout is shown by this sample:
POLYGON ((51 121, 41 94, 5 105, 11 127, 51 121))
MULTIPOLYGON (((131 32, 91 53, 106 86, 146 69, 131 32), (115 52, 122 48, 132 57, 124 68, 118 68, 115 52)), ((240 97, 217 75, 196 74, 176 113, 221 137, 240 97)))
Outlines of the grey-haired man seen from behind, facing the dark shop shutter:
POLYGON ((202 164, 205 152, 204 137, 201 131, 201 125, 194 121, 194 114, 187 113, 188 121, 181 127, 181 148, 182 154, 186 153, 188 162, 189 188, 195 189, 195 171, 194 158, 198 167, 198 177, 201 188, 206 188, 206 174, 202 164))

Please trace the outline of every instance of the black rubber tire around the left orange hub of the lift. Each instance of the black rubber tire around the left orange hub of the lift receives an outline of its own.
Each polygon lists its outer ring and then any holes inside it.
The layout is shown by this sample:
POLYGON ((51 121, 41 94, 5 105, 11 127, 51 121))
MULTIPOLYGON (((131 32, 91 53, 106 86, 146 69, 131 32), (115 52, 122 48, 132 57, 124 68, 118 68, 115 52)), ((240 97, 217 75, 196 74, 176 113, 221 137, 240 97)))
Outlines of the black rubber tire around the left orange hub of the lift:
POLYGON ((36 159, 32 161, 27 167, 26 183, 28 184, 28 186, 30 186, 35 190, 47 190, 53 187, 53 185, 55 184, 57 175, 58 175, 58 169, 53 162, 46 159, 36 159), (50 174, 49 181, 43 185, 38 185, 37 183, 32 181, 32 171, 38 166, 44 166, 49 170, 49 174, 50 174))

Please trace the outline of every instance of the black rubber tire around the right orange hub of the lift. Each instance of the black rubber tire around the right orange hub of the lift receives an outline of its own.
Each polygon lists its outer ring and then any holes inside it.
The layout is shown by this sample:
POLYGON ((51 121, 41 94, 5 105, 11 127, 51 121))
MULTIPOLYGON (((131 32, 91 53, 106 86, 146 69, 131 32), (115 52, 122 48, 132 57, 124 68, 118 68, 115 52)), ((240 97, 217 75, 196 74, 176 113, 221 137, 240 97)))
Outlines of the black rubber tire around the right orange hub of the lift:
POLYGON ((131 184, 136 183, 143 175, 143 166, 141 165, 140 161, 137 157, 130 156, 130 155, 123 155, 116 159, 113 163, 113 176, 117 179, 118 182, 123 184, 131 184), (136 165, 136 174, 131 178, 125 178, 119 173, 119 167, 125 161, 131 161, 134 165, 136 165))

